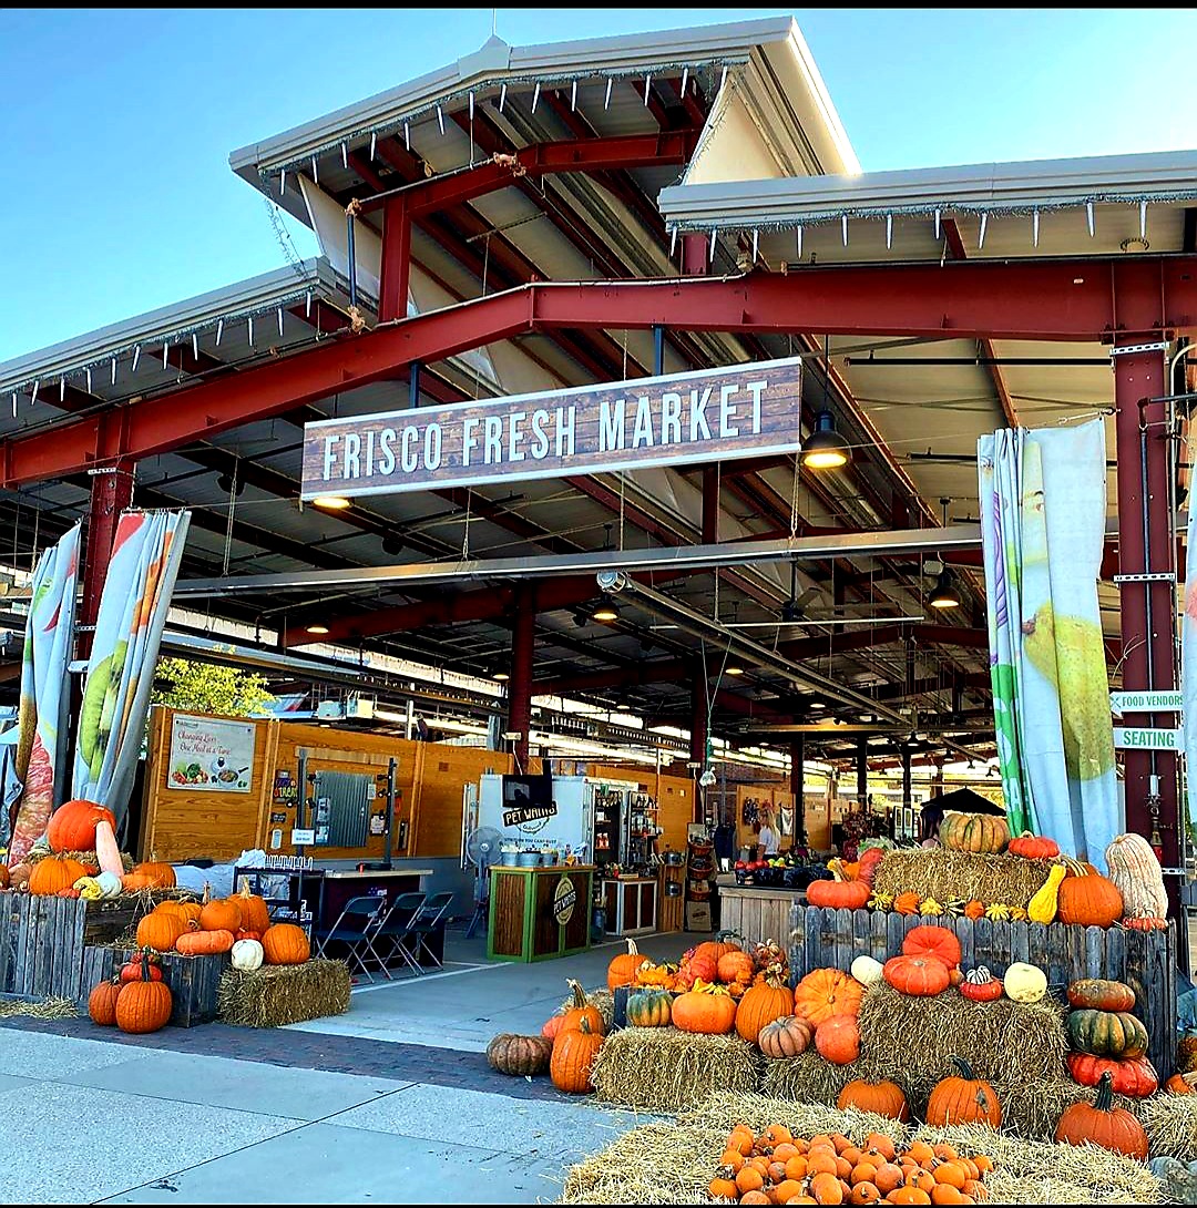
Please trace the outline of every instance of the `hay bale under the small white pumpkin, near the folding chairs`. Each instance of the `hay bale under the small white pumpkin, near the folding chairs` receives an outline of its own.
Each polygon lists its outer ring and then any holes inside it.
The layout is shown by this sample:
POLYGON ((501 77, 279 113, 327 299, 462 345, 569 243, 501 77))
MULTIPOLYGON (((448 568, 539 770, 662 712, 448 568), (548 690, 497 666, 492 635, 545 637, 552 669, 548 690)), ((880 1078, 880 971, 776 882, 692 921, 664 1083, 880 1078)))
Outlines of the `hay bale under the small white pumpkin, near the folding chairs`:
POLYGON ((349 969, 343 960, 226 969, 216 992, 220 1017, 243 1028, 278 1028, 349 1010, 349 969))

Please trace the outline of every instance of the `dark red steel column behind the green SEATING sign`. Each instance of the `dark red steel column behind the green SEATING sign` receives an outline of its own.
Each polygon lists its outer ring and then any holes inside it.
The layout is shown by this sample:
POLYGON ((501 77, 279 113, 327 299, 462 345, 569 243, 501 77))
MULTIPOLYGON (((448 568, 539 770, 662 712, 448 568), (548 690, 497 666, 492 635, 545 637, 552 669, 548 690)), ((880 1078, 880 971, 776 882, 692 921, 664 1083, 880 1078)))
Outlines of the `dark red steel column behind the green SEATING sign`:
MULTIPOLYGON (((1143 326, 1158 324, 1161 315, 1158 288, 1156 301, 1150 290, 1135 290, 1137 281, 1126 283, 1123 274, 1115 278, 1115 304, 1120 326, 1138 320, 1143 326), (1127 288, 1129 285, 1129 288, 1127 288), (1127 295, 1131 295, 1129 302, 1127 295), (1141 295, 1141 301, 1137 295, 1141 295), (1137 304, 1132 304, 1137 303, 1137 304)), ((1132 353, 1114 358, 1114 399, 1116 460, 1118 483, 1118 569, 1122 574, 1143 574, 1172 570, 1174 552, 1169 548, 1168 523, 1168 443, 1163 424, 1164 403, 1140 407, 1140 401, 1167 394, 1167 378, 1162 352, 1132 353), (1143 443, 1140 423, 1146 424, 1146 510, 1150 559, 1144 541, 1143 443)), ((1122 687, 1126 691, 1152 689, 1168 691, 1178 687, 1175 646, 1173 644, 1173 609, 1175 585, 1169 582, 1127 583, 1121 588, 1122 615, 1122 687), (1151 627, 1147 628, 1147 598, 1151 599, 1151 627), (1150 657, 1149 657, 1150 655, 1150 657)), ((1176 725, 1175 714, 1157 713, 1135 719, 1135 724, 1160 727, 1176 725)), ((1126 826, 1162 847, 1164 867, 1180 864, 1178 829, 1176 756, 1169 751, 1128 750, 1126 753, 1126 826), (1151 776, 1158 777, 1160 812, 1152 815, 1147 797, 1151 776)), ((1089 858, 1100 855, 1091 852, 1089 858)), ((1167 877, 1169 913, 1179 912, 1179 887, 1175 877, 1167 877)))

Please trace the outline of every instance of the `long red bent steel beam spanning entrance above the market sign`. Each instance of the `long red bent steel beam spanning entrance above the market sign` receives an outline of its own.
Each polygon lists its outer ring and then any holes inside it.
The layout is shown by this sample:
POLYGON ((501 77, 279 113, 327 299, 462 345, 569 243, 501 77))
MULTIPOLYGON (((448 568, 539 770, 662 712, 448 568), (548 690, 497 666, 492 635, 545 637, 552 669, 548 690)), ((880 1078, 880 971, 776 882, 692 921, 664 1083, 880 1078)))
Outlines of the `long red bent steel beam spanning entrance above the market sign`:
POLYGON ((393 377, 414 360, 443 360, 527 331, 662 324, 691 331, 1089 342, 1116 331, 1127 342, 1197 326, 1197 257, 1138 261, 1137 268, 1143 303, 1137 309, 1123 306, 1112 266, 1100 260, 820 267, 785 277, 682 281, 536 281, 10 437, 0 442, 0 486, 168 452, 393 377))

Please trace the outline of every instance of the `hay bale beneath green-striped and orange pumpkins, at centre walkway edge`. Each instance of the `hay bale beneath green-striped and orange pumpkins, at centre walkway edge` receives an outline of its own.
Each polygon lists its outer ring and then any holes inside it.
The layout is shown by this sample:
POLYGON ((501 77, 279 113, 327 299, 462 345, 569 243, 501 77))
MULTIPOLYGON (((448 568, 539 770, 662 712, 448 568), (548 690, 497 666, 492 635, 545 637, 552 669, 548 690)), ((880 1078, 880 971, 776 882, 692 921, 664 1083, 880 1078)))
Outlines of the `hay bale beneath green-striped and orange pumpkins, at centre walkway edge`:
POLYGON ((761 1061, 760 1050, 737 1035, 622 1028, 603 1041, 591 1081, 605 1103, 678 1111, 719 1090, 755 1091, 761 1061))

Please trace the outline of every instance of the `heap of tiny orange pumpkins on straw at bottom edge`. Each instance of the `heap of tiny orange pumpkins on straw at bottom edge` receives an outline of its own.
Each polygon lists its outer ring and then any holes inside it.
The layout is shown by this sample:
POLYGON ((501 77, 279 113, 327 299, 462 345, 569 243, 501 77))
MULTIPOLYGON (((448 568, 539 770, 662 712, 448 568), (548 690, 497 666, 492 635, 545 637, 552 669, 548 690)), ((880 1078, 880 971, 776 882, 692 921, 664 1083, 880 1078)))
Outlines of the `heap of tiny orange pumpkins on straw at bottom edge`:
POLYGON ((987 1155, 947 1144, 913 1142, 899 1152, 884 1133, 854 1145, 842 1133, 796 1137, 773 1123, 757 1136, 739 1123, 707 1190, 742 1204, 971 1204, 988 1198, 992 1169, 987 1155))

